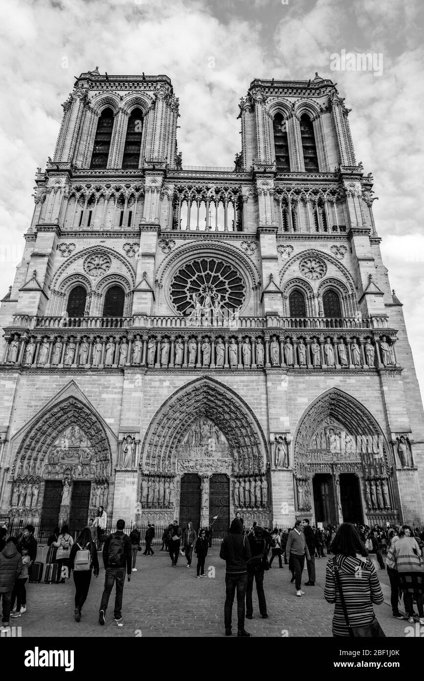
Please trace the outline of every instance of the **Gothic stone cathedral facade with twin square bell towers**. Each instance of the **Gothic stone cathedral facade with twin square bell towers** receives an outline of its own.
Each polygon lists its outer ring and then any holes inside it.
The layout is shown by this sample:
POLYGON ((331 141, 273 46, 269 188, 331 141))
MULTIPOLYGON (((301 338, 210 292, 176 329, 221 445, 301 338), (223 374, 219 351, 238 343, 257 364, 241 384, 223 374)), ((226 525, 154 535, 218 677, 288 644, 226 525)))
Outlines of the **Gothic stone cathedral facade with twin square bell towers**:
POLYGON ((253 80, 232 168, 183 165, 167 76, 96 67, 62 106, 1 300, 1 519, 423 524, 419 385, 332 81, 253 80))

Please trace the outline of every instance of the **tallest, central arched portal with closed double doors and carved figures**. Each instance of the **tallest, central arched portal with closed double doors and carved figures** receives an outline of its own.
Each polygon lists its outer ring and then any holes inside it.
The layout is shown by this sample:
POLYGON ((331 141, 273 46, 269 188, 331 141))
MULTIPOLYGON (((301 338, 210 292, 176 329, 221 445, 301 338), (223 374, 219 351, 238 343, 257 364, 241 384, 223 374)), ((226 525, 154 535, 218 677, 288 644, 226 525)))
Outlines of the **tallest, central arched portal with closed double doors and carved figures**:
POLYGON ((211 378, 191 381, 164 404, 142 447, 141 522, 228 529, 270 521, 268 447, 262 428, 234 391, 211 378), (189 517, 190 516, 190 517, 189 517))

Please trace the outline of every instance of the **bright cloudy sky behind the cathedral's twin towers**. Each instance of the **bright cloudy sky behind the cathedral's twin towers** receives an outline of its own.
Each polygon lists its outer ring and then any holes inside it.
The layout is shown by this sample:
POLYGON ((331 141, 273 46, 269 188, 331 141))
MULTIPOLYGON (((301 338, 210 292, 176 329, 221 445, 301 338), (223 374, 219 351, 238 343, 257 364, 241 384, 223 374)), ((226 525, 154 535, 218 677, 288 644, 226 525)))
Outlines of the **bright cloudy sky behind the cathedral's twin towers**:
POLYGON ((337 82, 424 388, 422 0, 14 0, 0 7, 0 296, 33 212, 74 76, 166 74, 180 100, 185 165, 232 165, 237 104, 253 78, 337 82), (378 72, 334 71, 331 55, 372 52, 378 72), (378 57, 378 55, 382 55, 378 57), (383 62, 381 62, 383 59, 383 62))

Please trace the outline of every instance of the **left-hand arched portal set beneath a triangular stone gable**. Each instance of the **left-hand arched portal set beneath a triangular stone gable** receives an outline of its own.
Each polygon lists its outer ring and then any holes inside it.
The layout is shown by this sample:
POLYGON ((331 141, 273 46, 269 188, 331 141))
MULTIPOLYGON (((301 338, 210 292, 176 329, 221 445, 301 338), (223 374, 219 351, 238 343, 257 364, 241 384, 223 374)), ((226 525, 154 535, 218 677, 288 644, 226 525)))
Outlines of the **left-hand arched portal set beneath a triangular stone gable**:
POLYGON ((11 517, 16 522, 30 514, 43 533, 64 522, 77 532, 96 507, 107 508, 112 501, 109 439, 94 411, 76 397, 35 419, 20 442, 12 473, 11 517))

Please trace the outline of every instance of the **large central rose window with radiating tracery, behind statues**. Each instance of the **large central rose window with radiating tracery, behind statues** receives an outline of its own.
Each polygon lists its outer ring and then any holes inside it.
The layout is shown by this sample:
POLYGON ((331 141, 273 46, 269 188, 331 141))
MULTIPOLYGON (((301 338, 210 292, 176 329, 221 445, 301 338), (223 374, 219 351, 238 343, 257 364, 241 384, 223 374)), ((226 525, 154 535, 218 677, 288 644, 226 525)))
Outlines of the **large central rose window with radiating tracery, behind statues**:
POLYGON ((192 260, 178 270, 171 281, 171 300, 181 315, 218 305, 230 313, 241 307, 246 296, 241 274, 222 260, 192 260))

